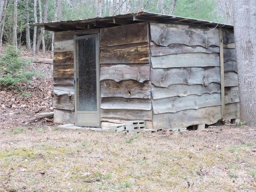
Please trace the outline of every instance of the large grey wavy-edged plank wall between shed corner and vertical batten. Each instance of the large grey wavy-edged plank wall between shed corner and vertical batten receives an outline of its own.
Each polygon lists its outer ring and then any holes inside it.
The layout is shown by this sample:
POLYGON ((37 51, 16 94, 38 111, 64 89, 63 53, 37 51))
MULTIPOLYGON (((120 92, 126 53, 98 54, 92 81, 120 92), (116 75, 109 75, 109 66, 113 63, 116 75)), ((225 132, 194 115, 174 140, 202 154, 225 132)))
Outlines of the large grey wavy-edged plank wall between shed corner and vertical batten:
POLYGON ((219 29, 150 23, 154 129, 221 119, 219 29))

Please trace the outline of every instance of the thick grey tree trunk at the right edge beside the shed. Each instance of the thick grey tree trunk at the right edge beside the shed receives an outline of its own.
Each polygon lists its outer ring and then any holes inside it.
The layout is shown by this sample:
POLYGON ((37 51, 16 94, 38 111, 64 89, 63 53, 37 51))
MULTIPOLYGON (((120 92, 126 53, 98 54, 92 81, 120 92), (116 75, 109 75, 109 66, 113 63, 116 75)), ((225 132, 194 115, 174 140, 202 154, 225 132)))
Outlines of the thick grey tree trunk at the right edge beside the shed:
POLYGON ((234 1, 240 118, 256 125, 256 1, 234 1))

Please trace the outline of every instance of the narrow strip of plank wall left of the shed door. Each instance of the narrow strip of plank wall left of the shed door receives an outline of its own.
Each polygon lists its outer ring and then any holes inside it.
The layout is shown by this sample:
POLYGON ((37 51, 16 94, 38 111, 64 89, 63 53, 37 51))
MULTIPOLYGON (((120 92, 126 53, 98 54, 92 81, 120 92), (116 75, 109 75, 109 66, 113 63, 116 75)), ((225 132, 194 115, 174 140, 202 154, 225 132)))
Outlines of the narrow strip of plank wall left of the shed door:
POLYGON ((53 108, 55 123, 75 123, 74 31, 55 32, 53 108))

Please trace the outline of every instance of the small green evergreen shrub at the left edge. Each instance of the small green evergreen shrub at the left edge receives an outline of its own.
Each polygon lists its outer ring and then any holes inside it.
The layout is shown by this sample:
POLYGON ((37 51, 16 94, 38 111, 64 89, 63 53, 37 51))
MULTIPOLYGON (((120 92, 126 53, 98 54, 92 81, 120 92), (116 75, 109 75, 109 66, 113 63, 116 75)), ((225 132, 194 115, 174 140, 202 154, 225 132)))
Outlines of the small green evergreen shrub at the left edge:
POLYGON ((0 87, 19 90, 19 83, 29 83, 35 75, 26 69, 31 61, 21 59, 20 55, 14 46, 7 46, 6 53, 0 58, 0 87))

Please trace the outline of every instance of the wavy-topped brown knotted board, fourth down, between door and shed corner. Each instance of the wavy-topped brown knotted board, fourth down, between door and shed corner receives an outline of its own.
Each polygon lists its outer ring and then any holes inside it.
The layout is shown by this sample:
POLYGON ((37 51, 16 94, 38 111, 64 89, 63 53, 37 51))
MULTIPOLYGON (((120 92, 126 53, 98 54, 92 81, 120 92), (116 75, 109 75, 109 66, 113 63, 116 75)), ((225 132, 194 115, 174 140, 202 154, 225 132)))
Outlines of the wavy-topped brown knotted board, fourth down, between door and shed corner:
POLYGON ((123 98, 141 98, 150 99, 150 82, 139 83, 134 80, 115 82, 105 80, 100 82, 101 97, 123 97, 123 98))

